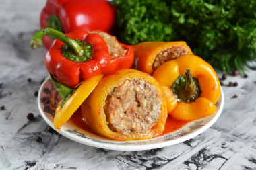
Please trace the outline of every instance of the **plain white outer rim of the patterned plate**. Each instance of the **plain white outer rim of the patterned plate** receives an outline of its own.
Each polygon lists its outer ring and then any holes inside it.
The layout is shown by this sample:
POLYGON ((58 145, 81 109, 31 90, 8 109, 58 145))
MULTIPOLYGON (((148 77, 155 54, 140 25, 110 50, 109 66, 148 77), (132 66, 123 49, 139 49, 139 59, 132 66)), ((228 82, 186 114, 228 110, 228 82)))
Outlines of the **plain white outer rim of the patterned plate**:
MULTIPOLYGON (((37 98, 38 110, 40 112, 40 115, 44 119, 44 121, 49 126, 51 126, 51 128, 53 128, 56 132, 65 136, 66 138, 69 138, 70 140, 74 140, 75 142, 79 142, 81 144, 86 144, 88 146, 92 146, 92 147, 96 147, 96 148, 103 148, 103 149, 109 149, 109 150, 115 150, 115 151, 145 151, 145 150, 156 149, 156 148, 164 148, 166 146, 172 146, 174 144, 179 144, 181 142, 185 142, 186 140, 194 138, 195 136, 198 136, 199 134, 203 133, 205 130, 210 128, 210 126, 212 126, 212 124, 214 124, 214 122, 216 122, 216 120, 218 120, 218 118, 220 117, 220 114, 222 113, 223 107, 224 107, 224 92, 222 90, 222 87, 220 87, 221 102, 220 102, 220 108, 219 108, 218 112, 212 118, 212 120, 210 120, 210 122, 208 122, 207 124, 205 124, 201 128, 195 130, 195 132, 192 132, 191 134, 187 134, 185 136, 182 136, 181 138, 176 138, 176 139, 173 139, 173 140, 168 140, 168 141, 164 141, 164 142, 160 142, 160 143, 154 143, 154 144, 139 144, 139 145, 137 145, 137 144, 120 145, 119 144, 119 145, 115 145, 115 144, 110 144, 110 143, 100 143, 100 142, 95 142, 93 140, 89 140, 87 138, 80 138, 79 136, 76 136, 74 134, 70 134, 69 132, 66 132, 65 130, 55 129, 55 127, 53 126, 53 123, 51 122, 51 120, 49 120, 49 118, 47 118, 46 114, 44 113, 44 111, 42 110, 42 107, 41 107, 40 96, 41 96, 41 93, 42 93, 42 89, 43 89, 43 87, 44 87, 44 85, 46 84, 47 81, 49 81, 49 77, 47 77, 44 80, 44 82, 42 83, 42 85, 40 86, 40 89, 38 91, 38 98, 37 98)), ((90 139, 93 139, 93 138, 90 138, 90 139)), ((100 139, 97 139, 97 140, 100 140, 100 139)), ((148 139, 148 140, 150 140, 150 139, 148 139)), ((145 140, 131 140, 131 141, 145 141, 145 140)), ((113 140, 113 142, 120 142, 120 143, 122 143, 122 142, 131 142, 131 141, 113 140)))

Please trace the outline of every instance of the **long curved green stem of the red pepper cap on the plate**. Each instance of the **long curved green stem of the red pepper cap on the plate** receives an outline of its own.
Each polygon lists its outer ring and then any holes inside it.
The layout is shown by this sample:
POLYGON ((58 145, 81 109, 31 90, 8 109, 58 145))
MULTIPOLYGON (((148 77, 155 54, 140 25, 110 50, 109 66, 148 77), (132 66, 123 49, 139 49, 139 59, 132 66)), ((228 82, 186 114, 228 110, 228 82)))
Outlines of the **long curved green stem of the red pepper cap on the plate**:
POLYGON ((67 44, 67 46, 70 46, 75 52, 75 54, 77 54, 77 56, 83 55, 83 48, 79 45, 79 43, 70 38, 69 36, 66 36, 64 33, 49 27, 42 28, 42 32, 44 33, 44 35, 56 38, 67 44))

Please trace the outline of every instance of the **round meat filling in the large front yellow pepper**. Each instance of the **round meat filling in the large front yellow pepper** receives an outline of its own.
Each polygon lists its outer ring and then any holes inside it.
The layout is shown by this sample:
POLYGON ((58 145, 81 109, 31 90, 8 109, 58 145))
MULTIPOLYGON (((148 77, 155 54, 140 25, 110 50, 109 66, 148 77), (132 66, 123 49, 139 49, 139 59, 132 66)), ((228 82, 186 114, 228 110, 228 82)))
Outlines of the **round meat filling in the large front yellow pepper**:
POLYGON ((126 80, 106 99, 108 127, 125 135, 148 132, 158 122, 161 104, 156 87, 140 79, 126 80))

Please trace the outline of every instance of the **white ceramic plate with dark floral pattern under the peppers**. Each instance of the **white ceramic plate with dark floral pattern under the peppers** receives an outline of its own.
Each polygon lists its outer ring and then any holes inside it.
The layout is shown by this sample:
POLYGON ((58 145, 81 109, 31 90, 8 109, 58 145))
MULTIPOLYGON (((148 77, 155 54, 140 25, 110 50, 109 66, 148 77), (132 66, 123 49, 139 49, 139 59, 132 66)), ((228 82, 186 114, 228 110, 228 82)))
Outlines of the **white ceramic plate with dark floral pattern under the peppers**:
MULTIPOLYGON (((49 126, 51 126, 53 129, 53 116, 55 115, 53 108, 57 107, 57 104, 60 100, 61 96, 55 90, 51 84, 51 81, 46 79, 39 89, 38 108, 42 118, 44 118, 46 123, 49 124, 49 126)), ((199 120, 195 120, 193 122, 189 122, 177 131, 170 132, 163 136, 149 140, 133 140, 128 142, 110 140, 96 134, 92 134, 91 132, 87 132, 86 130, 79 128, 72 121, 68 121, 66 124, 61 126, 60 130, 56 131, 71 140, 97 148, 119 151, 139 151, 153 148, 162 148, 165 146, 184 142, 185 140, 189 140, 201 134, 207 130, 207 128, 210 128, 210 126, 212 126, 212 124, 214 124, 214 122, 216 122, 220 116, 223 105, 224 94, 221 89, 221 96, 218 103, 216 104, 216 112, 214 114, 199 120)))

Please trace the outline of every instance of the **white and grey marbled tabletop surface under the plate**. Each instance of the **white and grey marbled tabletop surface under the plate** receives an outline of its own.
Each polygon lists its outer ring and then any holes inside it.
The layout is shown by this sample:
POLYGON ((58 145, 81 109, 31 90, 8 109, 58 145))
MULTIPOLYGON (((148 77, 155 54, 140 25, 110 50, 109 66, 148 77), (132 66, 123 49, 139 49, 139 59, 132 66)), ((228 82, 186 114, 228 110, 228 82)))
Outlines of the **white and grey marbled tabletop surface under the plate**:
POLYGON ((35 96, 47 73, 46 50, 29 46, 45 2, 0 0, 0 169, 256 169, 256 71, 250 69, 248 78, 224 81, 217 122, 180 144, 108 151, 49 132, 35 96), (228 87, 230 81, 238 86, 228 87), (38 136, 42 142, 36 142, 38 136))

